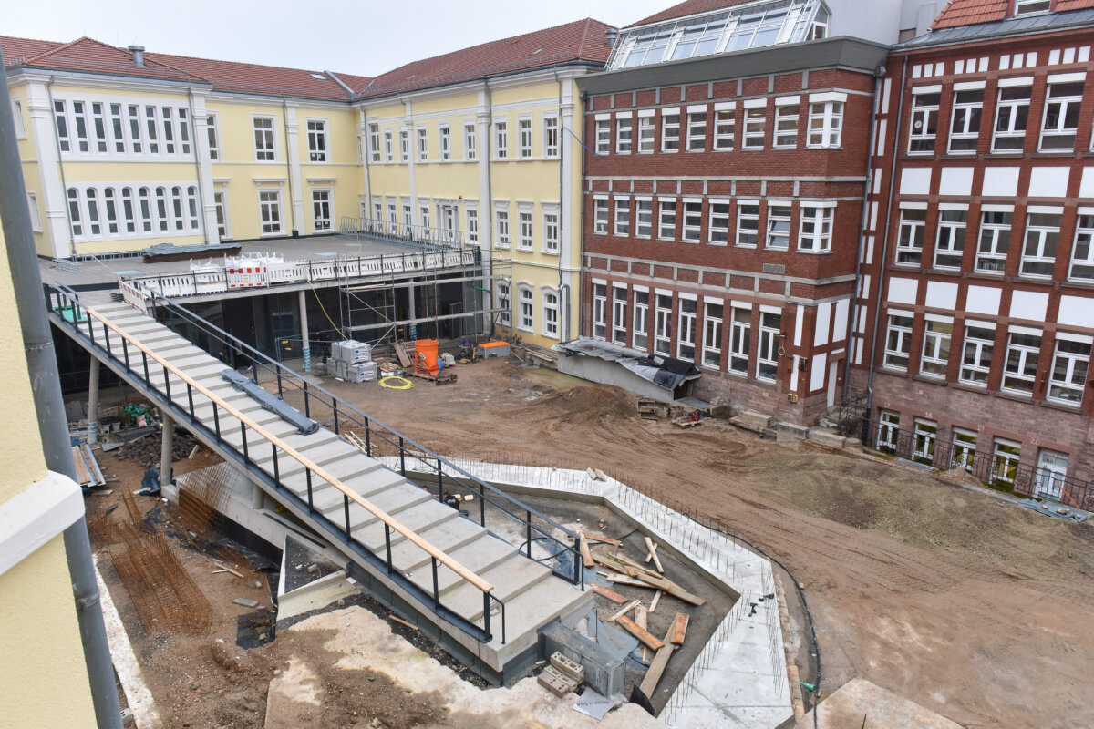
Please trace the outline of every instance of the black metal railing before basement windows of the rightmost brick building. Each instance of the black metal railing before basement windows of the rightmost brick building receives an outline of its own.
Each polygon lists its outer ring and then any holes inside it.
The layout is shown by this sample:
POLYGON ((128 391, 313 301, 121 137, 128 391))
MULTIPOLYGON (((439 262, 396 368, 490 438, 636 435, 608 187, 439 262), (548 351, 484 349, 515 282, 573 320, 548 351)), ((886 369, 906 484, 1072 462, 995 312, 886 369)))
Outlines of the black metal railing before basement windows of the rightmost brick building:
POLYGON ((1094 483, 1022 462, 1017 448, 955 440, 952 430, 946 427, 917 432, 866 418, 842 423, 841 433, 859 438, 874 450, 923 466, 941 470, 963 468, 993 489, 1083 509, 1094 508, 1094 483))

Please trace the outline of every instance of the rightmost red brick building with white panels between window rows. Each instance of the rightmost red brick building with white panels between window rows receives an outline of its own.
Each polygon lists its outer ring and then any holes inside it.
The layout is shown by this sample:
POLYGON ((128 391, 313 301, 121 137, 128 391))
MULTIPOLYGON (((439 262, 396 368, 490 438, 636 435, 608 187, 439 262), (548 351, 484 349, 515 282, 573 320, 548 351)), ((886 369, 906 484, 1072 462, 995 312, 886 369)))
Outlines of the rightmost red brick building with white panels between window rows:
POLYGON ((1094 0, 953 0, 894 48, 852 333, 869 440, 1086 508, 1092 47, 1094 0))

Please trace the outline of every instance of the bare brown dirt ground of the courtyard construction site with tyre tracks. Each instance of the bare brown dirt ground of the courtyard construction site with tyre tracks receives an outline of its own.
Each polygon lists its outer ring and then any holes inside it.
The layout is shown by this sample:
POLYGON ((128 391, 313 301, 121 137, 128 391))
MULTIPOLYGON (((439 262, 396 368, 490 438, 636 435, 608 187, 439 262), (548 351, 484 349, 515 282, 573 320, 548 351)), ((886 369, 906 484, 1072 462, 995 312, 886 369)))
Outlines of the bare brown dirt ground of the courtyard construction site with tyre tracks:
MULTIPOLYGON (((1094 635, 1085 628, 1094 615, 1094 527, 1056 521, 882 459, 763 442, 720 421, 686 431, 642 421, 633 396, 549 371, 488 361, 456 372, 456 384, 415 380, 401 391, 322 384, 437 452, 592 466, 723 520, 804 586, 824 694, 861 677, 965 727, 1091 726, 1094 635)), ((115 494, 91 497, 106 507, 125 485, 137 487, 141 468, 108 455, 102 463, 119 478, 115 494)), ((212 575, 208 556, 178 553, 212 605, 203 635, 133 630, 133 609, 109 560, 101 558, 164 726, 259 728, 275 671, 294 650, 321 646, 294 646, 287 633, 258 648, 235 648, 237 620, 252 609, 231 601, 249 597, 268 605, 265 575, 242 556, 226 561, 244 579, 212 575), (247 586, 254 579, 264 581, 261 589, 247 586)), ((814 680, 800 663, 803 678, 814 680)), ((374 718, 400 728, 447 724, 435 697, 408 694, 382 673, 321 678, 339 701, 307 726, 365 727, 374 718)))

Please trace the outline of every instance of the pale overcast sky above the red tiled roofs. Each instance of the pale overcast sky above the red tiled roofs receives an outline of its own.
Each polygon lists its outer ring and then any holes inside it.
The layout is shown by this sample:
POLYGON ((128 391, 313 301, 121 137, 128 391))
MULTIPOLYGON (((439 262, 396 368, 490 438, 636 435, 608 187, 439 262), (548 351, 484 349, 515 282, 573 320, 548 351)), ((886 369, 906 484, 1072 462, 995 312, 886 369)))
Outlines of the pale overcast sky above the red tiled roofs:
POLYGON ((673 0, 4 0, 0 35, 91 36, 149 51, 376 75, 592 16, 622 26, 673 0))

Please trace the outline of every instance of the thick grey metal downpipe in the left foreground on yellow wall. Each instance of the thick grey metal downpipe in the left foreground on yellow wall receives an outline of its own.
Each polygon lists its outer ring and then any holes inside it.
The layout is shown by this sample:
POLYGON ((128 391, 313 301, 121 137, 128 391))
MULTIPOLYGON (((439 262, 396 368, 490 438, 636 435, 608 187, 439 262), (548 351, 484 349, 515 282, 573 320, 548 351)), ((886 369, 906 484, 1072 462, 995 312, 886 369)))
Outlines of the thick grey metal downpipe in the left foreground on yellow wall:
MULTIPOLYGON (((3 52, 0 51, 0 69, 3 68, 3 52)), ((53 333, 43 302, 42 274, 34 247, 31 211, 26 205, 26 185, 15 142, 7 78, 0 83, 0 169, 13 171, 0 175, 0 219, 3 220, 8 266, 11 270, 19 324, 23 331, 23 346, 37 411, 43 455, 49 470, 75 481, 68 419, 65 416, 65 403, 61 399, 53 333)), ((98 601, 95 567, 91 561, 88 524, 83 517, 65 530, 63 540, 95 721, 98 729, 121 729, 118 690, 98 601)))

